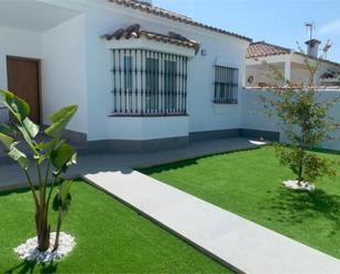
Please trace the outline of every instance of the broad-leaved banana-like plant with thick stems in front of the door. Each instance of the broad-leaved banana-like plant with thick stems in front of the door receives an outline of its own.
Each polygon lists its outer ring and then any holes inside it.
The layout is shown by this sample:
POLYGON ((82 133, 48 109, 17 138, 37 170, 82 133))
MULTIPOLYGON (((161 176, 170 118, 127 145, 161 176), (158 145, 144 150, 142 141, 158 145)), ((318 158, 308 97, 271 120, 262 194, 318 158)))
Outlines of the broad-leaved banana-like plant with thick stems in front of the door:
MULTIPOLYGON (((29 118, 30 106, 8 90, 0 90, 0 103, 11 113, 11 124, 0 124, 0 142, 4 145, 8 155, 14 160, 26 176, 35 206, 35 228, 39 250, 50 248, 51 226, 48 223, 48 208, 53 189, 58 186, 55 208, 64 208, 63 218, 70 202, 69 182, 64 180, 63 174, 76 161, 75 150, 62 139, 62 132, 77 111, 77 106, 63 108, 51 116, 52 124, 44 131, 29 118), (39 142, 37 136, 45 135, 47 142, 39 142), (20 142, 25 142, 32 156, 25 155, 19 149, 20 142), (37 180, 34 184, 31 169, 35 169, 37 180), (48 189, 47 183, 52 180, 48 189), (37 186, 37 189, 35 188, 37 186), (61 190, 62 189, 62 190, 61 190), (67 193, 66 193, 67 191, 67 193), (63 198, 61 198, 63 196, 63 198), (66 197, 66 198, 64 198, 66 197), (65 207, 66 199, 69 201, 65 207)), ((58 221, 58 227, 61 220, 58 221)), ((59 229, 57 229, 58 234, 59 229)), ((58 235, 55 249, 58 246, 58 235)))

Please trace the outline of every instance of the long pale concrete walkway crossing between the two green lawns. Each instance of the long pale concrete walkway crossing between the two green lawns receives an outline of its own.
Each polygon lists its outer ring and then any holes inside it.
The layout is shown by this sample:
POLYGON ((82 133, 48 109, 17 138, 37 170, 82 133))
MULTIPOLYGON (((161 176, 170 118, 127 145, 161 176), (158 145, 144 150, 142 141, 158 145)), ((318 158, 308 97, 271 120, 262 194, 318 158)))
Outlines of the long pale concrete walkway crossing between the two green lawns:
POLYGON ((100 172, 85 178, 238 272, 340 273, 339 260, 139 172, 100 172))

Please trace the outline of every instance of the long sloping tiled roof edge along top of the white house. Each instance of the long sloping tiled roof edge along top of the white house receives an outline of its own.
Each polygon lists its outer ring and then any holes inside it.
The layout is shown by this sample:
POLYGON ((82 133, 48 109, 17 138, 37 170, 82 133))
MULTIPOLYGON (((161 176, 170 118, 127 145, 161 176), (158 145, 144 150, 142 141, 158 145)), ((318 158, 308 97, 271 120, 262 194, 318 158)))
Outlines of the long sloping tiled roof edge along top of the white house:
POLYGON ((221 34, 227 34, 227 35, 231 35, 241 40, 245 40, 248 42, 252 42, 252 40, 250 37, 243 36, 243 35, 239 35, 237 33, 232 33, 232 32, 228 32, 215 26, 210 26, 200 22, 197 22, 195 20, 193 20, 191 18, 168 11, 168 10, 164 10, 162 8, 155 7, 155 6, 150 6, 146 3, 141 3, 138 1, 133 1, 133 0, 108 0, 108 2, 112 2, 112 3, 117 3, 127 8, 131 8, 134 10, 139 10, 142 12, 146 12, 146 13, 152 13, 154 15, 157 17, 162 17, 162 18, 166 18, 169 20, 174 20, 174 21, 178 21, 185 24, 189 24, 189 25, 195 25, 195 26, 199 26, 212 32, 217 32, 217 33, 221 33, 221 34))

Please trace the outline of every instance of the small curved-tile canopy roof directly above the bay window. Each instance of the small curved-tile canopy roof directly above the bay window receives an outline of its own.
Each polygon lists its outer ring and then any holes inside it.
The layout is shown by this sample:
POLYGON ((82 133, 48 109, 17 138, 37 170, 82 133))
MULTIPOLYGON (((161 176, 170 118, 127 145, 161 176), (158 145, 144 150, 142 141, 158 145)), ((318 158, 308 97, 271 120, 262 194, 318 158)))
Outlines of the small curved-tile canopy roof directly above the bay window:
POLYGON ((153 40, 156 42, 163 42, 168 44, 174 44, 178 46, 185 46, 195 50, 196 53, 198 53, 200 44, 196 41, 189 40, 187 37, 182 36, 180 34, 168 32, 168 35, 150 32, 145 29, 141 28, 140 24, 132 24, 125 29, 118 29, 112 34, 105 34, 102 35, 103 39, 110 41, 112 39, 120 40, 120 39, 140 39, 145 37, 149 40, 153 40))

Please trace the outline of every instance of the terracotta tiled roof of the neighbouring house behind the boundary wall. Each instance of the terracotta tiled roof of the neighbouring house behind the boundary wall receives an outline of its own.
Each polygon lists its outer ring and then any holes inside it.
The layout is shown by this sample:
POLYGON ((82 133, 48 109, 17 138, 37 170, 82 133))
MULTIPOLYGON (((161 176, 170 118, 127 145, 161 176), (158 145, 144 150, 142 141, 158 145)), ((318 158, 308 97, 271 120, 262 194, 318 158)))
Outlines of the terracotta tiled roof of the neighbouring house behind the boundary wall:
MULTIPOLYGON (((308 56, 307 54, 295 52, 294 50, 287 47, 270 44, 264 41, 251 43, 246 50, 246 58, 266 57, 266 56, 290 54, 290 53, 298 54, 304 57, 308 57, 310 59, 317 59, 315 57, 308 56)), ((329 59, 322 59, 322 62, 340 66, 339 63, 329 59)))

